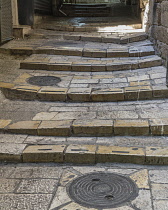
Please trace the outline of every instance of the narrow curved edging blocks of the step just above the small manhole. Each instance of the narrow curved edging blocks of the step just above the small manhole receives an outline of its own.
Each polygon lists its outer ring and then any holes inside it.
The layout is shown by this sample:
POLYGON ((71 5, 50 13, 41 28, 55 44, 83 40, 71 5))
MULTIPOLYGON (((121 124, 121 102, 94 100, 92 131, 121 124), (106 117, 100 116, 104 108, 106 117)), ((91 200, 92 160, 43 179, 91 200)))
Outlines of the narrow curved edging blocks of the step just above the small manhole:
MULTIPOLYGON (((36 56, 34 54, 33 56, 36 56)), ((74 59, 75 60, 75 59, 74 59)), ((89 62, 59 62, 59 63, 52 63, 49 60, 40 61, 32 60, 28 58, 25 61, 20 63, 21 69, 30 69, 30 70, 47 70, 47 71, 77 71, 77 72, 102 72, 102 71, 122 71, 122 70, 135 70, 141 68, 149 68, 154 66, 161 66, 162 59, 158 56, 154 57, 144 57, 143 59, 137 60, 130 60, 130 61, 122 61, 116 60, 107 62, 106 64, 103 63, 89 63, 89 62)))

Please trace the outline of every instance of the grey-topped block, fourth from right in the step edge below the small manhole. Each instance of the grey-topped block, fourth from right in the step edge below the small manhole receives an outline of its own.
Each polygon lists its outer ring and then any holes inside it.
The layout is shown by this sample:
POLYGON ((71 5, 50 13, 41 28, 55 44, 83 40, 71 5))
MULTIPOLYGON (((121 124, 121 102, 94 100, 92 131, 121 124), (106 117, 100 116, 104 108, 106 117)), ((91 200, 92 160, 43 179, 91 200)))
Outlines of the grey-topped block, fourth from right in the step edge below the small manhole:
POLYGON ((68 99, 72 101, 90 101, 91 88, 70 88, 68 99))

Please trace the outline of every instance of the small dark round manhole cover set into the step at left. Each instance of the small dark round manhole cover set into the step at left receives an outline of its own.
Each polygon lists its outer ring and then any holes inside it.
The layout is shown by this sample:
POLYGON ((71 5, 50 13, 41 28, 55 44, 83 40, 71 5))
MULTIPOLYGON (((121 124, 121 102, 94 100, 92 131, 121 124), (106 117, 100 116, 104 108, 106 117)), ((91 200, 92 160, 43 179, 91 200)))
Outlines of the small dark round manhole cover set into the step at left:
POLYGON ((31 85, 37 86, 56 86, 61 79, 54 76, 34 76, 30 77, 27 82, 31 85))

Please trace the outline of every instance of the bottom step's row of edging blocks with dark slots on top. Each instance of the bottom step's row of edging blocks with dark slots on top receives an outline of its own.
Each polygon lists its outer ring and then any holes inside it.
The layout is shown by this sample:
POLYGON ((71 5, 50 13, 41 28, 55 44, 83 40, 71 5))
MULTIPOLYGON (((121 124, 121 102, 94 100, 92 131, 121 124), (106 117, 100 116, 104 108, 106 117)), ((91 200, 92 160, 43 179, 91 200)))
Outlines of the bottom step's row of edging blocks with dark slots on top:
POLYGON ((168 164, 168 148, 162 147, 119 147, 102 145, 27 145, 22 152, 0 154, 1 162, 22 163, 133 163, 133 164, 168 164), (15 157, 16 156, 16 157, 15 157))

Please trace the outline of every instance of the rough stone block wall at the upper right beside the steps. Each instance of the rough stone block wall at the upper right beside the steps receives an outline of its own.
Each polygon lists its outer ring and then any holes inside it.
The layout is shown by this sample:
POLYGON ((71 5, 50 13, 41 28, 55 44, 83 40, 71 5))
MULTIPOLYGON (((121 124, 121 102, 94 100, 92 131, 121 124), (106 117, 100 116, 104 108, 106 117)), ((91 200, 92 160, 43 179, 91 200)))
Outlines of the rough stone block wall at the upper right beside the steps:
POLYGON ((148 32, 168 67, 168 0, 150 0, 148 32))

